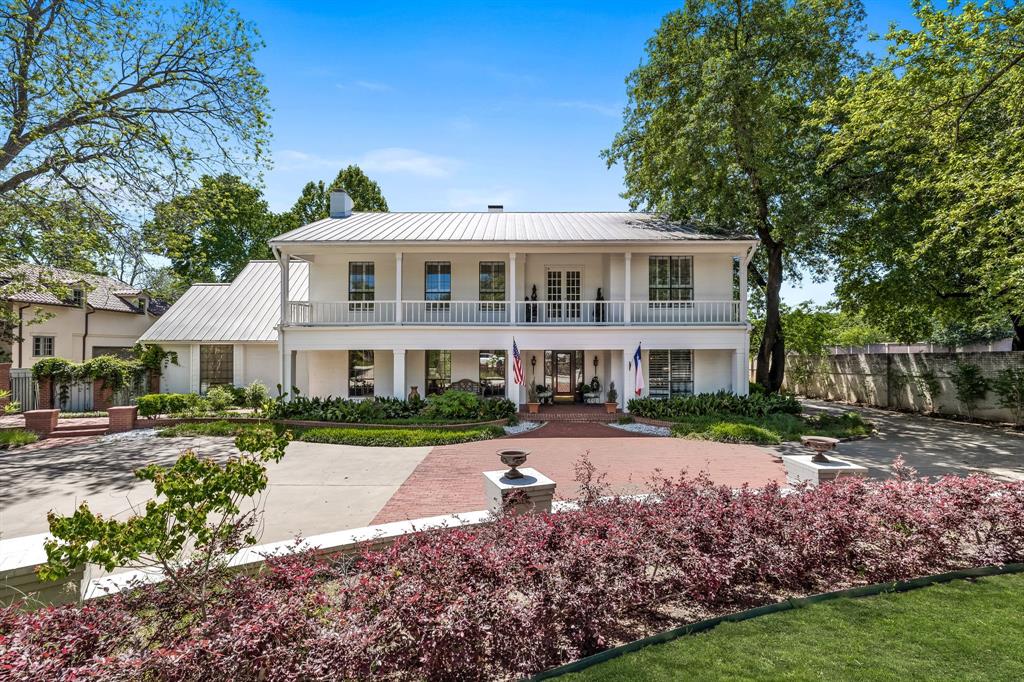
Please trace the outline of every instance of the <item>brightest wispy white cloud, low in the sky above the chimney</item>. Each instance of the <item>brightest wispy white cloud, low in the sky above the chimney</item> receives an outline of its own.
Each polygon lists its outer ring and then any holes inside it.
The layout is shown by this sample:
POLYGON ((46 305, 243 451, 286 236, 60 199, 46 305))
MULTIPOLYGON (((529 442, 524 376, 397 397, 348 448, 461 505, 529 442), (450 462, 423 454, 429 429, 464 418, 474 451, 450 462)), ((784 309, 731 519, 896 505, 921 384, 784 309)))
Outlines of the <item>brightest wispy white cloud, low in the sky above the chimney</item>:
POLYGON ((298 150, 280 150, 274 153, 273 160, 274 170, 283 172, 337 172, 354 163, 371 175, 406 174, 418 177, 450 177, 462 166, 457 159, 400 146, 371 150, 354 159, 331 159, 298 150))

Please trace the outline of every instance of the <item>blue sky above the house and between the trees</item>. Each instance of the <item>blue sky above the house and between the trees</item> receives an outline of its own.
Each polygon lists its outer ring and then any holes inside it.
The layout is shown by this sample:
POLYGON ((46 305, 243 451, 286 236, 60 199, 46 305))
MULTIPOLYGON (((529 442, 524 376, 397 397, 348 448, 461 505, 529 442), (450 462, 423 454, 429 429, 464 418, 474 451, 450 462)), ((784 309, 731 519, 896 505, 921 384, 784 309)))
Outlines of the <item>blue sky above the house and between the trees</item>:
MULTIPOLYGON (((598 155, 621 126, 624 79, 679 4, 240 3, 266 42, 267 200, 285 210, 356 163, 395 211, 624 210, 622 171, 598 155)), ((911 20, 908 0, 866 5, 870 31, 911 20)), ((783 293, 825 302, 831 286, 783 293)))

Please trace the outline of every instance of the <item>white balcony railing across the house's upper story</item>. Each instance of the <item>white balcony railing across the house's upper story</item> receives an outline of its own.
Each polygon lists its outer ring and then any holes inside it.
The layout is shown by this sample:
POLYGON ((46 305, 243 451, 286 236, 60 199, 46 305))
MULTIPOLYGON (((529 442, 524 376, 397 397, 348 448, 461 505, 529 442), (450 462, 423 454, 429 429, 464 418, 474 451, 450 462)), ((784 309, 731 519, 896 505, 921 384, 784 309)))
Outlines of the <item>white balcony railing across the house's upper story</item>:
MULTIPOLYGON (((508 301, 290 301, 297 326, 500 326, 510 325, 508 301)), ((516 325, 592 327, 601 325, 734 325, 743 322, 739 301, 516 301, 516 325)))

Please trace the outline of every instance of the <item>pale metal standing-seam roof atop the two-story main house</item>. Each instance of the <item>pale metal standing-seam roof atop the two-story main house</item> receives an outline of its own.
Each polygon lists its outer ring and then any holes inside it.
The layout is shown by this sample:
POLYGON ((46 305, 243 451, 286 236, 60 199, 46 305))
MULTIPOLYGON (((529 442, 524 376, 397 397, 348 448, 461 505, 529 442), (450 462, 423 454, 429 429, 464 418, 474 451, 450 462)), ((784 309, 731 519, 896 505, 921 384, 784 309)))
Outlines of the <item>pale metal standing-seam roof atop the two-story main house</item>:
POLYGON ((756 241, 698 230, 653 213, 352 213, 325 218, 270 240, 324 242, 666 242, 756 241))

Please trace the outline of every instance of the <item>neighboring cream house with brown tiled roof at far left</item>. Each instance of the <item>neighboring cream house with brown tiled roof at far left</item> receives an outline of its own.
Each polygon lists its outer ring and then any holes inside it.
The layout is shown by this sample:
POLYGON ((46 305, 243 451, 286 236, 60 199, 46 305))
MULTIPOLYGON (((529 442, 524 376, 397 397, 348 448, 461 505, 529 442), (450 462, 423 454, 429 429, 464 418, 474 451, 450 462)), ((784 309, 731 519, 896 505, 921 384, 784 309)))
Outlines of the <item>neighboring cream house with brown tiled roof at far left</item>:
POLYGON ((28 282, 59 283, 68 297, 61 300, 34 286, 0 302, 22 321, 14 330, 22 342, 10 347, 14 368, 30 368, 53 356, 84 361, 102 354, 126 355, 167 309, 145 291, 101 274, 32 264, 18 265, 16 272, 28 282), (37 315, 37 310, 43 314, 37 315), (29 324, 37 317, 40 322, 29 324))

